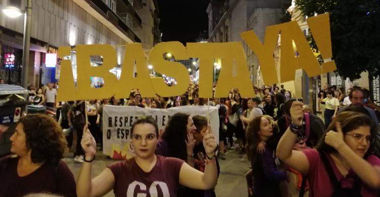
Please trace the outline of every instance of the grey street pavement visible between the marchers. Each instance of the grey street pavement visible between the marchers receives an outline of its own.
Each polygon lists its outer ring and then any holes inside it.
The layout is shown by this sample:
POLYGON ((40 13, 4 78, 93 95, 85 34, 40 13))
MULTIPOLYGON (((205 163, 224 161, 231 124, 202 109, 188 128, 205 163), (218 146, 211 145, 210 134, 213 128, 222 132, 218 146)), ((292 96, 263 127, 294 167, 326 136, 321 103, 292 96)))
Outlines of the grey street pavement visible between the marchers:
MULTIPOLYGON (((239 156, 241 155, 238 154, 237 151, 229 150, 225 155, 226 160, 219 159, 221 172, 218 178, 218 184, 216 185, 216 196, 247 196, 247 186, 244 174, 249 169, 249 163, 246 159, 243 160, 239 156)), ((63 161, 66 162, 76 180, 78 178, 81 164, 73 161, 72 152, 67 153, 63 161)), ((117 161, 107 159, 101 151, 98 151, 93 166, 93 176, 100 174, 107 165, 112 164, 113 162, 117 161)), ((105 196, 114 196, 113 191, 110 191, 105 196)))

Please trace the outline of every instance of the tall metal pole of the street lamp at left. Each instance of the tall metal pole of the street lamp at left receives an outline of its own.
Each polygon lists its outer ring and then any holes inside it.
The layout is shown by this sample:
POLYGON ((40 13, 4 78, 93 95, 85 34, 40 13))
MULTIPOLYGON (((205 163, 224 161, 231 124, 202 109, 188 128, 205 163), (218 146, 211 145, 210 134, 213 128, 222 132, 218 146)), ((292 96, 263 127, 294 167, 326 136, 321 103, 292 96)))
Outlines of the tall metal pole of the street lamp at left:
POLYGON ((22 87, 28 87, 29 72, 29 49, 30 49, 30 29, 31 29, 31 13, 32 2, 26 0, 25 16, 24 16, 24 43, 22 46, 22 87))

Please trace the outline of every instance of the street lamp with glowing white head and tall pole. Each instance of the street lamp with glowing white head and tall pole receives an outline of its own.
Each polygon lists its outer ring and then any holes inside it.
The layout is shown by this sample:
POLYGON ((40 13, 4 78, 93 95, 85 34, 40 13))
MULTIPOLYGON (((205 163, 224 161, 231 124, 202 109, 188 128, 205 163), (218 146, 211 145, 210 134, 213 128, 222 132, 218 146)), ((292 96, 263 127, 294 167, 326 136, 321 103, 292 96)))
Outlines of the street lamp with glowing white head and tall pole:
MULTIPOLYGON (((29 71, 29 49, 30 49, 30 28, 31 28, 31 0, 26 0, 25 14, 24 14, 24 42, 22 45, 22 87, 28 87, 28 71, 29 71)), ((20 9, 8 6, 3 9, 3 13, 11 18, 21 16, 20 9)))

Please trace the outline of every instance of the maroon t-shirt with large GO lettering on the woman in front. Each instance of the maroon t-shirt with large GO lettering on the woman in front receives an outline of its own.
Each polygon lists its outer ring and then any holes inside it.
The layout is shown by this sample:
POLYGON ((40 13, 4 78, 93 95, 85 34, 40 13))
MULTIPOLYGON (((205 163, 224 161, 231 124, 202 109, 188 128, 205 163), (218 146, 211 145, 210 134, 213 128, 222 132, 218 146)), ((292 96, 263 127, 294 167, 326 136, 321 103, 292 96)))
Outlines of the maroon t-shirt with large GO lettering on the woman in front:
POLYGON ((113 193, 125 196, 176 196, 182 160, 157 155, 157 163, 150 172, 144 172, 135 159, 108 166, 115 176, 113 193))

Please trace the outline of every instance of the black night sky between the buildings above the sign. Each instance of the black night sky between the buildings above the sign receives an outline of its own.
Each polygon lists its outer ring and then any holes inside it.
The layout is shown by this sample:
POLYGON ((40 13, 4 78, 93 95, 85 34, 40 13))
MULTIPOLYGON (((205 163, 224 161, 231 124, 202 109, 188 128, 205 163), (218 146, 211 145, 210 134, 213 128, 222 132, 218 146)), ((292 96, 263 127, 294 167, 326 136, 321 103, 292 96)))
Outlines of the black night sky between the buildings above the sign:
POLYGON ((208 30, 208 0, 158 0, 162 41, 195 42, 208 30))

